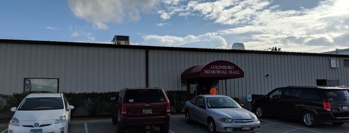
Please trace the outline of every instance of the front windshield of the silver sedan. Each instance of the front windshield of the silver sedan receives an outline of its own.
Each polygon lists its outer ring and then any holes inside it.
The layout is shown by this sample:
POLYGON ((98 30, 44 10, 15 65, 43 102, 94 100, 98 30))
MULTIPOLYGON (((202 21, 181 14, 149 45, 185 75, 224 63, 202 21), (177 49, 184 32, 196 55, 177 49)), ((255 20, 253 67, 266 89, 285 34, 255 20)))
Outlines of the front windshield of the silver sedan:
POLYGON ((241 106, 229 97, 208 97, 208 108, 241 108, 241 106))

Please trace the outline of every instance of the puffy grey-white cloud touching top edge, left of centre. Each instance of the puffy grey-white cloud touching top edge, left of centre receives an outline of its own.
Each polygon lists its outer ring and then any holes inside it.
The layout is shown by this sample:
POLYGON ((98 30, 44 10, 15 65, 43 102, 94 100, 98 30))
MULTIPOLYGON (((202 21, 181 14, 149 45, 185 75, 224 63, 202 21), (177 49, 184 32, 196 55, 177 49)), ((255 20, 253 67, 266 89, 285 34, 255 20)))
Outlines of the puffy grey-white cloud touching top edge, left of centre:
POLYGON ((68 0, 75 16, 93 23, 96 29, 108 29, 106 23, 140 19, 140 10, 154 6, 158 0, 68 0))

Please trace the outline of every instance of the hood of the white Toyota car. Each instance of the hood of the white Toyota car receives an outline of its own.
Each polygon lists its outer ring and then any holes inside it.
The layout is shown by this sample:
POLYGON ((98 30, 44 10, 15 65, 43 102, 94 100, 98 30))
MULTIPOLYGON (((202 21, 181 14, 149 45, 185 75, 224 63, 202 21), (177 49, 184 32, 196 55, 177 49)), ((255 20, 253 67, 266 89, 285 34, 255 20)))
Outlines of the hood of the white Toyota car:
POLYGON ((55 120, 63 115, 63 110, 35 110, 35 111, 21 111, 17 110, 13 117, 18 121, 41 121, 41 120, 55 120))

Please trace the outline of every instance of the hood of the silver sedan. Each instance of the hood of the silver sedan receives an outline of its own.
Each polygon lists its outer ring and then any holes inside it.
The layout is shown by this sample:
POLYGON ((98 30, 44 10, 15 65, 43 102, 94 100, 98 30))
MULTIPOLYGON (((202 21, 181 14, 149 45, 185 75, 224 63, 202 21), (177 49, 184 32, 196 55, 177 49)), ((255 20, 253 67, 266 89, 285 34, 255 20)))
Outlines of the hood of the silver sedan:
POLYGON ((220 118, 252 119, 256 117, 252 112, 243 108, 212 109, 212 111, 220 118))

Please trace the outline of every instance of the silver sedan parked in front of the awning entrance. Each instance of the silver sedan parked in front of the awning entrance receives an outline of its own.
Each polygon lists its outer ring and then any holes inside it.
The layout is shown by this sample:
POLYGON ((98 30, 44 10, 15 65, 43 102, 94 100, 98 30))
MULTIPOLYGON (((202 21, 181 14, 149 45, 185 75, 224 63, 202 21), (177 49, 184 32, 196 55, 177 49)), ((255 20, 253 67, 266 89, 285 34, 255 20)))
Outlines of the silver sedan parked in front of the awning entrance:
POLYGON ((186 101, 185 121, 207 125, 209 133, 254 133, 261 127, 255 114, 224 95, 198 95, 186 101))

